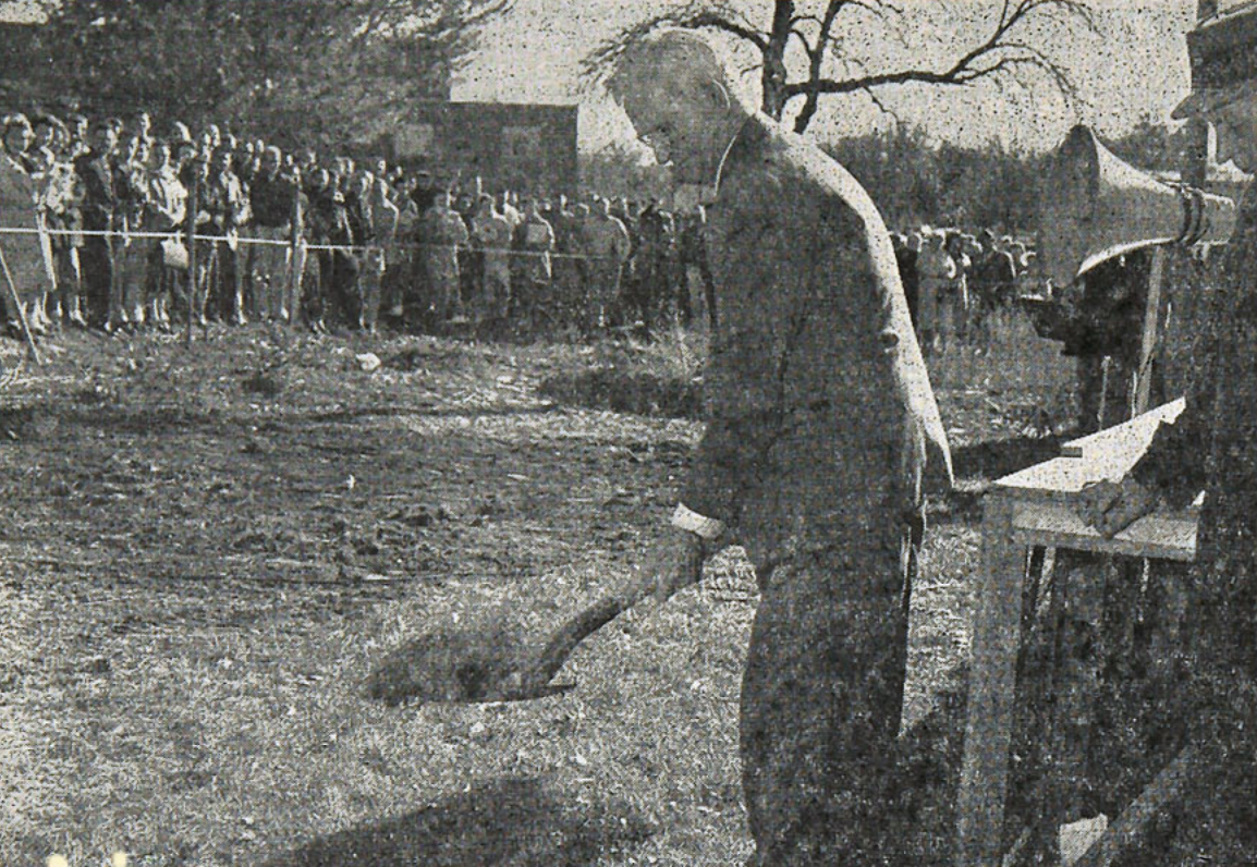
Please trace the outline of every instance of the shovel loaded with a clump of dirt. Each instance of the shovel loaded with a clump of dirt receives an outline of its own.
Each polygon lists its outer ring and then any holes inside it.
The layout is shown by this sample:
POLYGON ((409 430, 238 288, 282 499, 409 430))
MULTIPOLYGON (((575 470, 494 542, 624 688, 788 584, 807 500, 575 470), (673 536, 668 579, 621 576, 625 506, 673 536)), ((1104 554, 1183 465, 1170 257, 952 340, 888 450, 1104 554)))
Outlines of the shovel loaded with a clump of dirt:
POLYGON ((503 619, 439 628, 391 652, 367 677, 367 696, 402 702, 478 704, 530 701, 567 692, 576 682, 551 684, 577 645, 652 596, 654 577, 635 575, 564 621, 549 638, 524 641, 503 619))

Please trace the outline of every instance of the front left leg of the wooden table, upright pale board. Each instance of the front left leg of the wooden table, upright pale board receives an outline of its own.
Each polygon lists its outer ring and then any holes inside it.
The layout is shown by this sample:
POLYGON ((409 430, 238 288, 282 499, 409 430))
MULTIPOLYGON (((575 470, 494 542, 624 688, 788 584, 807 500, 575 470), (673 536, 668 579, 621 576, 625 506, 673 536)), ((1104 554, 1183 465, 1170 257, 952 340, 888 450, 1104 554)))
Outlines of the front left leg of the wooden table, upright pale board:
POLYGON ((957 805, 958 867, 989 867, 1001 861, 1024 565, 1026 552, 1013 532, 1012 501, 993 491, 987 495, 982 523, 982 582, 975 596, 957 805))

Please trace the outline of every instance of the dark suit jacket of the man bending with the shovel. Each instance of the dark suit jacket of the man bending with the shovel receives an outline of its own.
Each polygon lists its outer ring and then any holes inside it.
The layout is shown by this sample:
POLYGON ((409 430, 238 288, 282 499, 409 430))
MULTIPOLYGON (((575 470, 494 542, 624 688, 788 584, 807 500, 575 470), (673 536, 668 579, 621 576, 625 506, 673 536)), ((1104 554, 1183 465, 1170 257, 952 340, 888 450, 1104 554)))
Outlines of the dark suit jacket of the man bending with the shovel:
POLYGON ((852 533, 889 543, 919 503, 926 445, 948 479, 952 462, 872 200, 757 114, 725 156, 708 235, 722 319, 683 501, 757 562, 852 533))

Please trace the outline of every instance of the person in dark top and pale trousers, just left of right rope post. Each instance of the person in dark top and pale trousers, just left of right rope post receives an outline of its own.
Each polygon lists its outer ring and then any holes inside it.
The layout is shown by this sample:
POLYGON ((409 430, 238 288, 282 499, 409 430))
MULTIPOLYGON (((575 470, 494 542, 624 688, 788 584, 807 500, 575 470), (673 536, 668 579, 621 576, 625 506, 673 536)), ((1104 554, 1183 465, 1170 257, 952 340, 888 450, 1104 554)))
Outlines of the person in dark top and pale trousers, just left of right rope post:
POLYGON ((250 234, 269 241, 249 245, 248 254, 254 288, 253 313, 260 319, 290 320, 292 281, 299 283, 304 270, 300 246, 293 261, 293 235, 300 235, 299 217, 294 216, 299 212, 297 178, 283 171, 279 148, 268 147, 249 190, 250 234))

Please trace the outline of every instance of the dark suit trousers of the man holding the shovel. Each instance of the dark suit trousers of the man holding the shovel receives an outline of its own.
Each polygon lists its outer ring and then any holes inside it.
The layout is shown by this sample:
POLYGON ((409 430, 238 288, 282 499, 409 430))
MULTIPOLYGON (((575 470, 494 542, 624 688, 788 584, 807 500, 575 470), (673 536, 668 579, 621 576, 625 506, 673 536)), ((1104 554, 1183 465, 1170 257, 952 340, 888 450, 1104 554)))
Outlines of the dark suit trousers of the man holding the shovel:
POLYGON ((845 539, 760 575, 740 715, 749 863, 880 864, 892 848, 914 569, 905 530, 897 548, 845 539))

